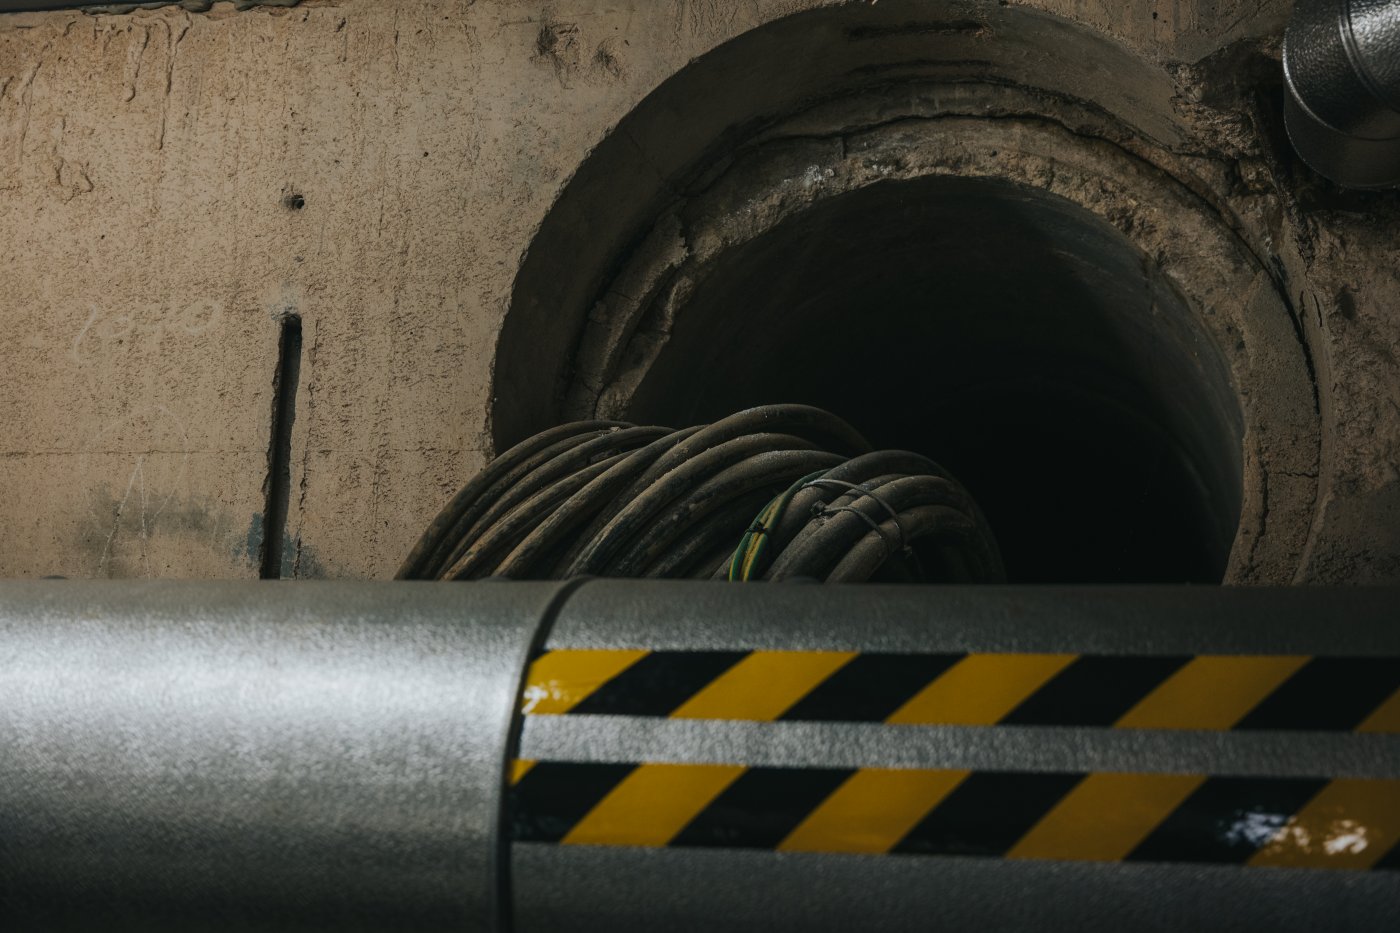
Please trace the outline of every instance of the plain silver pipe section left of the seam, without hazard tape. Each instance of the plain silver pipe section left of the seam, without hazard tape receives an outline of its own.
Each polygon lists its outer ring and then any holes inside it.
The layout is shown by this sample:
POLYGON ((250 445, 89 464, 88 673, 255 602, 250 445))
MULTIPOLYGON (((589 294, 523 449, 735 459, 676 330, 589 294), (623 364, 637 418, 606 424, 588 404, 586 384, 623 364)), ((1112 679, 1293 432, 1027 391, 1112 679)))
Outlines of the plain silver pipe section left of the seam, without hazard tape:
POLYGON ((561 586, 0 586, 0 929, 500 929, 561 586))

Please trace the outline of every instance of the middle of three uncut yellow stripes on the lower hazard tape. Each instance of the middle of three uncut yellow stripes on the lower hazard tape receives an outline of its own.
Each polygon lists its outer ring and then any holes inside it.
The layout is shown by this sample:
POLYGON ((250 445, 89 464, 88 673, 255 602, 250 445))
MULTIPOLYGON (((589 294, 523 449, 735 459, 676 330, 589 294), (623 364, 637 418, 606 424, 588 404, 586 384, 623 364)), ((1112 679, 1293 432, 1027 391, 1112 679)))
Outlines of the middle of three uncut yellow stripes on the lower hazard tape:
POLYGON ((882 768, 858 770, 788 834, 778 849, 889 852, 967 773, 882 768))

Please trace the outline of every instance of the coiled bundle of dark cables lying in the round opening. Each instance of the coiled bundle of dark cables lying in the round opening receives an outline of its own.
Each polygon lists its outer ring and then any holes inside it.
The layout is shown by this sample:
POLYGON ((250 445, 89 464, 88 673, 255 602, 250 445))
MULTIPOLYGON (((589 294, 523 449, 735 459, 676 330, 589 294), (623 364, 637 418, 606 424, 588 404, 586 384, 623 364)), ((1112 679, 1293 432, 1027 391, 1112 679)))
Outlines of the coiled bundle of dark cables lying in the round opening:
POLYGON ((536 434, 452 497, 398 576, 1004 579, 981 513, 946 471, 871 451, 805 405, 679 431, 577 422, 536 434))

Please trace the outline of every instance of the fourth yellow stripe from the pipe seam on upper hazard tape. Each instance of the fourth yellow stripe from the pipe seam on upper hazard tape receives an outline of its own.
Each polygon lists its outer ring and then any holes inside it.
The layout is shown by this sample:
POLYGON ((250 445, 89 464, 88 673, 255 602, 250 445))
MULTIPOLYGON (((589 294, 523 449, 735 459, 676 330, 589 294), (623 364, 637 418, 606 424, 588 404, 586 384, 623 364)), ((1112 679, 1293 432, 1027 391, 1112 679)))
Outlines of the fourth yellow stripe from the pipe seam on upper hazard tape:
POLYGON ((1201 654, 1114 724, 1119 728, 1229 728, 1308 660, 1289 654, 1201 654))

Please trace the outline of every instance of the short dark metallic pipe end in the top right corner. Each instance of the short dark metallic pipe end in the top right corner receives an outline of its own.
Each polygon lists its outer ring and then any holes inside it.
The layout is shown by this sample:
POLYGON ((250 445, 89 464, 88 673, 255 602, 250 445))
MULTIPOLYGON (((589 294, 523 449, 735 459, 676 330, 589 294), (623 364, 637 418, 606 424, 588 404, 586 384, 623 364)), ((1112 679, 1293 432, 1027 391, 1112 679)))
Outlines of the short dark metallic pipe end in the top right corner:
POLYGON ((1284 80, 1309 167, 1347 188, 1400 185, 1400 0, 1298 0, 1284 80))

